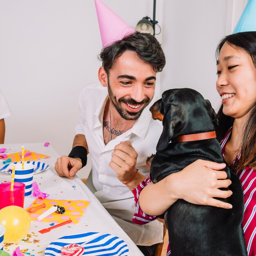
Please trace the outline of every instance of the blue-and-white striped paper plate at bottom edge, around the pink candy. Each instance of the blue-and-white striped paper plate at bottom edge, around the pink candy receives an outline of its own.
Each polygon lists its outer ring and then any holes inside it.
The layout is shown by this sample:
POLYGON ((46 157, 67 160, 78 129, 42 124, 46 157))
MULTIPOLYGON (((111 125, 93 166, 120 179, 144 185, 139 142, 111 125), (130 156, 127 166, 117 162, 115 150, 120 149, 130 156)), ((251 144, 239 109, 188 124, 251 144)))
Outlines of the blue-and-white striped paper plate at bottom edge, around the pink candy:
MULTIPOLYGON (((50 243, 45 249, 45 255, 61 256, 61 248, 70 244, 82 244, 89 241, 98 234, 97 232, 90 232, 85 234, 76 234, 72 236, 63 236, 54 242, 50 243)), ((84 251, 81 255, 112 255, 112 256, 127 256, 129 249, 126 243, 117 236, 110 234, 103 234, 94 240, 83 245, 84 251)))

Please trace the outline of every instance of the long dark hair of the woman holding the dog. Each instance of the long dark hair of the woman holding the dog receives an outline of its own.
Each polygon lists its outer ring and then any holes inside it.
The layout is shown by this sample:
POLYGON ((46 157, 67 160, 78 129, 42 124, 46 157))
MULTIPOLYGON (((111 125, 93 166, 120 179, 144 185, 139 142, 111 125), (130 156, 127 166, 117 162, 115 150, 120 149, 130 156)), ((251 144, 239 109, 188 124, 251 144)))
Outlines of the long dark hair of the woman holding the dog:
MULTIPOLYGON (((252 58, 256 72, 256 31, 240 32, 225 36, 225 38, 220 41, 216 49, 217 60, 220 55, 220 50, 225 43, 229 44, 235 49, 240 49, 247 52, 252 58)), ((222 110, 223 105, 220 107, 217 114, 220 125, 216 128, 216 134, 219 141, 223 139, 227 133, 227 130, 234 123, 234 118, 224 115, 222 110)), ((256 101, 248 112, 249 117, 243 130, 241 159, 240 161, 236 161, 233 166, 236 173, 243 170, 246 166, 251 166, 252 168, 256 169, 256 101)))

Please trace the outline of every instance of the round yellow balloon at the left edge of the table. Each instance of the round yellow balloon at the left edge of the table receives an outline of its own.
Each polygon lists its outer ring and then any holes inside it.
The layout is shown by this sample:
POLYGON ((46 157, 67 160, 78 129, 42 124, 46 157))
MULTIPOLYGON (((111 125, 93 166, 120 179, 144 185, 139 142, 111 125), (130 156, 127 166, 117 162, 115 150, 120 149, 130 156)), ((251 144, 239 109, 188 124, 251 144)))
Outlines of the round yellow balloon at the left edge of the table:
POLYGON ((27 235, 30 229, 30 217, 27 211, 15 205, 0 210, 0 225, 5 227, 4 243, 17 243, 27 235))

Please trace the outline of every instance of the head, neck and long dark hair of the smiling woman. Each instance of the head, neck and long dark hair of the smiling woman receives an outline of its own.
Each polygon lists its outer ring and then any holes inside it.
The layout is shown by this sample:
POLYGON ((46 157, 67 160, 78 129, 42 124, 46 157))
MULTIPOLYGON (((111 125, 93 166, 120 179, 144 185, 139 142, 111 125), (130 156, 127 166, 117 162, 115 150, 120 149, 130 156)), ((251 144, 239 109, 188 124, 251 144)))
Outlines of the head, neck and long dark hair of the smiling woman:
POLYGON ((247 165, 256 168, 256 32, 225 37, 218 45, 216 56, 216 88, 222 98, 217 136, 221 140, 233 126, 233 133, 238 133, 240 138, 229 141, 225 160, 231 164, 241 152, 240 161, 234 164, 236 172, 247 165))

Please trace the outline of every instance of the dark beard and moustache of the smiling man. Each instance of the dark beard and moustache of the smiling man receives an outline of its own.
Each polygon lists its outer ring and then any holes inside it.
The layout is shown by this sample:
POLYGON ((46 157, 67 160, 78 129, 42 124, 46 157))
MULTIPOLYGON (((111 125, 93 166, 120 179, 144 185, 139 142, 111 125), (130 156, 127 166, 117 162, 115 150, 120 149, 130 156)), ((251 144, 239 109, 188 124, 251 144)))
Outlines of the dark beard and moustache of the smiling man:
POLYGON ((121 117, 123 117, 125 120, 137 120, 140 117, 144 108, 146 108, 146 106, 148 106, 148 104, 152 100, 152 99, 149 99, 148 97, 146 97, 143 101, 137 102, 132 98, 124 98, 123 97, 117 101, 117 97, 113 94, 113 92, 111 90, 109 79, 108 79, 108 95, 109 95, 111 103, 113 104, 113 106, 115 107, 115 109, 117 110, 119 115, 121 117), (145 104, 145 105, 138 112, 130 112, 130 111, 122 108, 121 102, 130 104, 130 105, 139 105, 139 104, 140 105, 145 104))

